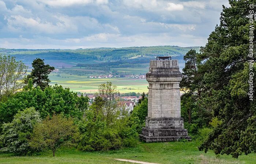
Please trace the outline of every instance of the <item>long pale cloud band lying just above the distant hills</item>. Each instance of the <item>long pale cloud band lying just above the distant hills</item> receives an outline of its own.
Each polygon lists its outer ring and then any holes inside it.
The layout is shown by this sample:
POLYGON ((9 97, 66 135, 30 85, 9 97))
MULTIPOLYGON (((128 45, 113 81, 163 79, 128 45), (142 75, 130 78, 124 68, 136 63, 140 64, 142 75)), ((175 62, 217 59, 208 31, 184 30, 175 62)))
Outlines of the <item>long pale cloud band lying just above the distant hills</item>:
POLYGON ((193 35, 173 36, 172 33, 138 34, 125 36, 121 34, 99 33, 83 38, 52 39, 49 37, 37 37, 26 39, 0 38, 0 47, 5 48, 94 48, 94 47, 131 47, 131 46, 157 46, 157 45, 177 45, 182 47, 204 46, 207 39, 193 35), (42 42, 44 40, 44 42, 42 42))

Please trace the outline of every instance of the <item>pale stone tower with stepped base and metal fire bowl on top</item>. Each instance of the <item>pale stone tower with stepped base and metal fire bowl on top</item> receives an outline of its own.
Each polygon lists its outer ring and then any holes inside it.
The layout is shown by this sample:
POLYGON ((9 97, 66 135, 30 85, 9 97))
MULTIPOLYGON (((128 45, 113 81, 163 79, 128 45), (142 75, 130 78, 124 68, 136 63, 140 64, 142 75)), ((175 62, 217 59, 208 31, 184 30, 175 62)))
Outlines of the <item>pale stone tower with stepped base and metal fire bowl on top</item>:
POLYGON ((140 138, 146 142, 190 140, 180 117, 180 81, 178 60, 157 57, 150 60, 148 81, 148 117, 140 138))

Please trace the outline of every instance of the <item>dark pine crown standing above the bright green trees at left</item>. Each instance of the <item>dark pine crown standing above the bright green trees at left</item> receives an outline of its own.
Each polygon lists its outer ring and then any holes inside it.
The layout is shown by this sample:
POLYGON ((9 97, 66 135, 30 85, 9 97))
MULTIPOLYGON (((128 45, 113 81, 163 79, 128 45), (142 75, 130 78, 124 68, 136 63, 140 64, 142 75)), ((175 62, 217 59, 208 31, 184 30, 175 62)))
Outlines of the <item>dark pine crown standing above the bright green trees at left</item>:
POLYGON ((48 78, 48 74, 50 74, 54 67, 50 65, 45 65, 44 59, 36 58, 33 60, 32 69, 30 75, 27 75, 27 79, 25 82, 29 80, 29 78, 33 79, 33 84, 36 86, 40 86, 42 90, 45 87, 49 86, 50 79, 48 78))

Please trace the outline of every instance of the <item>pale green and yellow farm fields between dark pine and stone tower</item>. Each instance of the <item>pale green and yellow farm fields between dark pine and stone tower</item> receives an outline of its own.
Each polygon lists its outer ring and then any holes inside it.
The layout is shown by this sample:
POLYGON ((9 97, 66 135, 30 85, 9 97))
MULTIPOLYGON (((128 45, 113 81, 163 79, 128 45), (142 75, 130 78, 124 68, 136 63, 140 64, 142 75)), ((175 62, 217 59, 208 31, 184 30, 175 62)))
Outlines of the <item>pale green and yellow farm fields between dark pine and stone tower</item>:
MULTIPOLYGON (((135 78, 87 78, 87 76, 77 76, 69 74, 50 74, 49 79, 52 81, 50 85, 58 84, 63 87, 69 87, 70 90, 75 92, 95 93, 98 91, 98 86, 107 81, 112 82, 117 86, 120 93, 136 92, 147 93, 148 82, 146 79, 135 78)), ((90 75, 89 75, 90 76, 90 75)))

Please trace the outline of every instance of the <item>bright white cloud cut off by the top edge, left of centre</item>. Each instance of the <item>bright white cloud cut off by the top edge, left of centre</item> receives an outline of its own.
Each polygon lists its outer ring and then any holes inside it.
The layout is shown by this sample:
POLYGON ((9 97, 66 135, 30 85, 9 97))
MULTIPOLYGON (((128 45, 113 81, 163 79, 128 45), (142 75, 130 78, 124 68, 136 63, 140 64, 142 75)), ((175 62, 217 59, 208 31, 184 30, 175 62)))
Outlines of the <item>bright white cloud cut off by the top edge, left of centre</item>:
POLYGON ((72 5, 107 4, 108 0, 38 0, 53 7, 68 7, 72 5))

